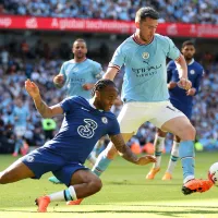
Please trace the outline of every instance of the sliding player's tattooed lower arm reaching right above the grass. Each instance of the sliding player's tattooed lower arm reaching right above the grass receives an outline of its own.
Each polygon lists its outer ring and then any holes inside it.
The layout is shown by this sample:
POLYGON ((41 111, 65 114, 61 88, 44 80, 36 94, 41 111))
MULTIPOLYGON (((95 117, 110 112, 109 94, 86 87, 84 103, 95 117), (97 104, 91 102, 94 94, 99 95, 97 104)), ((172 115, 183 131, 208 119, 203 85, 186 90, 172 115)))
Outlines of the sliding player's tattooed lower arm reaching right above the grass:
POLYGON ((119 152, 119 155, 130 162, 135 165, 147 165, 156 161, 154 156, 146 155, 143 157, 137 157, 135 154, 133 154, 130 147, 125 145, 122 134, 111 135, 110 140, 119 152))

